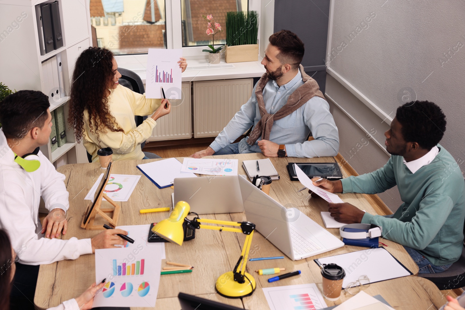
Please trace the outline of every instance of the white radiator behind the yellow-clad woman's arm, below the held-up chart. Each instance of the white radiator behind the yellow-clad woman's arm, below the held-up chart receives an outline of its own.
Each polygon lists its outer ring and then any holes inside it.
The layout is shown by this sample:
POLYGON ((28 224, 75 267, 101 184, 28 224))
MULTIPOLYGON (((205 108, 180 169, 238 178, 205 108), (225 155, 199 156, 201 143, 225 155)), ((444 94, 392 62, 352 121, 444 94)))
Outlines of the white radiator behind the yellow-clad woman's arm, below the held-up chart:
MULTIPOLYGON (((153 134, 147 141, 192 138, 191 83, 182 83, 181 90, 182 99, 170 100, 171 112, 157 120, 153 134)), ((168 93, 166 96, 169 96, 168 93)))

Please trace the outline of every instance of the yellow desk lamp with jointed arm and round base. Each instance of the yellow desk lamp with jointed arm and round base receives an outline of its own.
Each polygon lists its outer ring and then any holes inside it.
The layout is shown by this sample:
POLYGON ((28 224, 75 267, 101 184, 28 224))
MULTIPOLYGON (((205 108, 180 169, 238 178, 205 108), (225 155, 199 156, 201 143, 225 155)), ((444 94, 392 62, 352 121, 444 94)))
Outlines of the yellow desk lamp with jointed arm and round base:
POLYGON ((234 267, 234 270, 228 271, 219 276, 219 278, 216 280, 215 289, 220 295, 228 298, 240 298, 252 295, 257 285, 252 275, 246 272, 246 263, 250 251, 250 245, 252 244, 252 236, 253 231, 255 231, 255 224, 250 222, 231 222, 216 219, 201 219, 199 216, 193 220, 189 220, 186 218, 186 216, 189 214, 190 210, 191 207, 188 203, 185 201, 179 201, 174 206, 174 210, 170 212, 170 217, 160 221, 158 224, 153 226, 152 231, 160 237, 163 237, 166 240, 178 245, 182 245, 184 240, 184 231, 182 227, 184 222, 186 222, 186 224, 188 224, 193 230, 203 228, 216 231, 232 231, 246 234, 246 241, 244 242, 242 253, 240 254, 239 260, 234 267), (240 228, 210 226, 200 223, 240 226, 240 228))

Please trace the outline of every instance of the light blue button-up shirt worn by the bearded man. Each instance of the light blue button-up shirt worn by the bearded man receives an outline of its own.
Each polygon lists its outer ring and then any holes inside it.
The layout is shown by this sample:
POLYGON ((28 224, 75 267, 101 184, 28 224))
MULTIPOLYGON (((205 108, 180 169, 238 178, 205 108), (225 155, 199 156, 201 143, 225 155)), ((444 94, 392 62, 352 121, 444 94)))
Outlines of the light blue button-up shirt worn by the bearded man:
MULTIPOLYGON (((270 114, 276 113, 286 105, 288 96, 299 86, 302 86, 302 74, 300 71, 296 76, 283 86, 278 86, 276 81, 270 80, 263 89, 263 100, 266 111, 270 114)), ((252 125, 256 126, 261 119, 255 87, 252 97, 244 104, 228 125, 219 133, 210 147, 218 152, 226 145, 231 144, 239 138, 252 125)), ((246 138, 239 142, 239 153, 259 153, 260 147, 248 145, 246 138)), ((329 112, 329 105, 325 99, 313 97, 299 109, 282 119, 275 120, 270 132, 270 141, 279 145, 286 145, 289 157, 321 157, 336 156, 339 151, 339 133, 334 119, 329 112), (312 132, 312 141, 306 141, 308 134, 312 132)))

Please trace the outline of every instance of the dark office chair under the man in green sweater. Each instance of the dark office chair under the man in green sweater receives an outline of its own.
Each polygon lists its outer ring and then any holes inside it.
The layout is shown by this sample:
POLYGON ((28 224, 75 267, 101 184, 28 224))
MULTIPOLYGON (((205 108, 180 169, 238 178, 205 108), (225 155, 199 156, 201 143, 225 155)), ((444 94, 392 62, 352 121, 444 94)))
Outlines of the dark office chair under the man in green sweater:
MULTIPOLYGON (((464 226, 465 234, 465 226, 464 226)), ((465 243, 462 248, 462 255, 457 262, 440 273, 419 274, 419 277, 430 280, 436 284, 439 290, 454 290, 465 286, 465 243)))

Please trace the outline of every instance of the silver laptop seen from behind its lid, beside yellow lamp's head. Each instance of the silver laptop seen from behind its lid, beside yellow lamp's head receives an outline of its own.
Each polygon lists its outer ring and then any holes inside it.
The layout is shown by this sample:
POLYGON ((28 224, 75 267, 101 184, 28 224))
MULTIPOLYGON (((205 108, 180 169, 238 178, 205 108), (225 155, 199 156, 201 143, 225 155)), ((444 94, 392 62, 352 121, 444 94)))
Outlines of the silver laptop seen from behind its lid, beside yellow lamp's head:
POLYGON ((216 214, 244 211, 238 176, 175 178, 173 185, 174 201, 186 201, 191 206, 191 212, 216 214))

